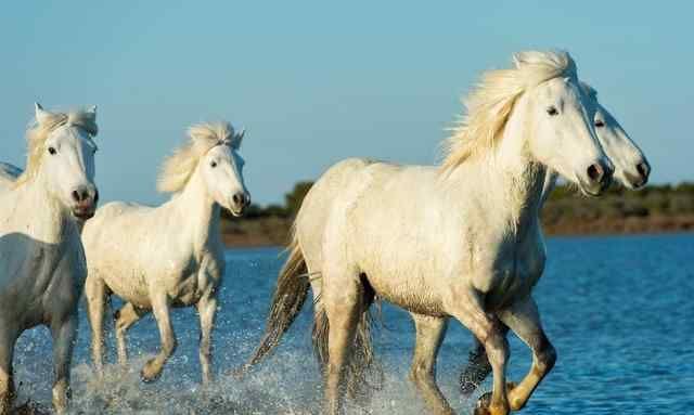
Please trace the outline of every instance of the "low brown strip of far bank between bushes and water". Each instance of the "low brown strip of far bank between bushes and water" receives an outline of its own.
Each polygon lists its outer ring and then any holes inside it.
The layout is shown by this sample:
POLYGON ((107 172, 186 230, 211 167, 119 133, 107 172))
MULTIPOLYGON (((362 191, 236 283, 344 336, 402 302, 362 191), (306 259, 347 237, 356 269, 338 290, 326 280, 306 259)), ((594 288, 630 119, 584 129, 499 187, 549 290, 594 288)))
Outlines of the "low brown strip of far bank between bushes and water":
MULTIPOLYGON (((280 217, 222 222, 222 239, 230 248, 285 246, 292 220, 280 217)), ((556 220, 543 224, 547 236, 635 235, 694 232, 694 215, 556 220)))

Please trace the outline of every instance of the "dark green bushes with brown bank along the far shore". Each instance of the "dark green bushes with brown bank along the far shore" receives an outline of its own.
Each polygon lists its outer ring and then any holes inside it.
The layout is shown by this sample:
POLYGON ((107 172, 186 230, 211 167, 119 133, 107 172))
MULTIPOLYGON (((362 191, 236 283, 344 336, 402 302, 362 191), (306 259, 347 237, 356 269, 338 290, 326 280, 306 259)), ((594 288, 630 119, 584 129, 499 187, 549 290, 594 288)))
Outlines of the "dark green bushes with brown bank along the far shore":
MULTIPOLYGON (((233 246, 285 245, 292 221, 312 182, 298 182, 283 205, 252 205, 244 218, 224 212, 223 237, 233 246)), ((542 209, 548 234, 694 231, 694 183, 648 185, 633 192, 613 186, 602 197, 586 197, 557 185, 542 209)))

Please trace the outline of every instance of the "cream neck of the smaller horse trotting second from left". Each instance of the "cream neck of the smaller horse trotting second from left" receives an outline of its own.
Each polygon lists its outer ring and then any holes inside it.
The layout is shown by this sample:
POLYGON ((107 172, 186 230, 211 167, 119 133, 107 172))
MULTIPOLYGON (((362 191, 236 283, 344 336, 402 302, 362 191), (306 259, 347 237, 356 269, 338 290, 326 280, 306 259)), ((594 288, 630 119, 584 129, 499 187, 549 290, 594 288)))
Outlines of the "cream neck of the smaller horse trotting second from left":
POLYGON ((220 238, 220 207, 208 194, 198 171, 171 200, 170 208, 181 220, 179 234, 188 238, 194 249, 207 249, 220 238))

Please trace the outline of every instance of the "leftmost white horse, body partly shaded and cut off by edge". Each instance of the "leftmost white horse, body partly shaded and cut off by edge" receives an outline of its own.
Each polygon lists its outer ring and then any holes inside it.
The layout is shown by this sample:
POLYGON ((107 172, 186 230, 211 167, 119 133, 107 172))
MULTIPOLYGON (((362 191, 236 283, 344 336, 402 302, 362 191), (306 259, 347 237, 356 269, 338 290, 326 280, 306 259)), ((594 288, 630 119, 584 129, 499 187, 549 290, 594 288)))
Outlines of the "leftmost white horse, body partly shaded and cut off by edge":
MULTIPOLYGON (((26 171, 5 183, 0 204, 0 414, 14 395, 17 337, 44 324, 53 336, 53 405, 69 398, 77 302, 87 276, 73 217, 86 220, 99 198, 93 183, 95 108, 50 113, 36 104, 27 131, 26 171)), ((16 171, 14 171, 16 172, 16 171)))

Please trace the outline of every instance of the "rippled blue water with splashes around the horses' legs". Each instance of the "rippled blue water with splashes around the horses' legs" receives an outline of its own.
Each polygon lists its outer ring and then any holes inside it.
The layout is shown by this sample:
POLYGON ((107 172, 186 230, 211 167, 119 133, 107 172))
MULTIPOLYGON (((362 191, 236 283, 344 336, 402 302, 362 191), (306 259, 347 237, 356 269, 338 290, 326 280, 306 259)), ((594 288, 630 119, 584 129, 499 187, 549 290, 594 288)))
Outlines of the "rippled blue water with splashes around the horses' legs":
MULTIPOLYGON (((694 234, 562 237, 548 242, 549 261, 535 298, 558 351, 554 371, 523 413, 694 413, 694 234)), ((73 365, 75 413, 308 414, 320 411, 321 381, 310 349, 309 304, 278 352, 244 379, 230 369, 248 356, 260 335, 281 258, 278 249, 228 251, 215 336, 217 380, 200 387, 198 324, 193 310, 175 311, 179 348, 155 384, 138 373, 158 348, 150 316, 130 330, 131 362, 110 365, 104 380, 89 367, 89 325, 80 310, 73 365)), ((83 310, 83 304, 82 304, 83 310)), ((386 378, 370 403, 350 413, 425 413, 407 380, 413 327, 408 315, 384 307, 375 334, 386 378)), ((457 392, 471 336, 452 323, 438 359, 438 382, 460 413, 473 401, 457 392)), ((518 380, 530 353, 511 339, 511 378, 518 380)), ((113 341, 111 362, 114 362, 113 341)), ((50 404, 51 340, 37 328, 23 335, 15 354, 20 402, 50 404)), ((487 381, 483 390, 490 388, 487 381)))

